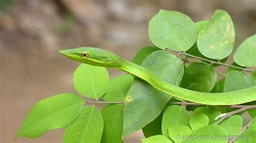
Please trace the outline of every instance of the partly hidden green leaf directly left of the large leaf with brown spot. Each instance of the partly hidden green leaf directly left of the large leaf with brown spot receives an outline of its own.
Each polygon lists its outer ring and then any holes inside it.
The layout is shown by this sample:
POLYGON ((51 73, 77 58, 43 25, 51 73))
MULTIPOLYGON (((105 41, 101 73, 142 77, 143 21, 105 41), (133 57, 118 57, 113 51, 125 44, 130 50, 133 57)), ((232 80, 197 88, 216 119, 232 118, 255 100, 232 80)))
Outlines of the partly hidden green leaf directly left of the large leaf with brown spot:
POLYGON ((123 142, 121 140, 123 128, 123 106, 118 104, 106 105, 102 111, 104 128, 101 142, 123 142))

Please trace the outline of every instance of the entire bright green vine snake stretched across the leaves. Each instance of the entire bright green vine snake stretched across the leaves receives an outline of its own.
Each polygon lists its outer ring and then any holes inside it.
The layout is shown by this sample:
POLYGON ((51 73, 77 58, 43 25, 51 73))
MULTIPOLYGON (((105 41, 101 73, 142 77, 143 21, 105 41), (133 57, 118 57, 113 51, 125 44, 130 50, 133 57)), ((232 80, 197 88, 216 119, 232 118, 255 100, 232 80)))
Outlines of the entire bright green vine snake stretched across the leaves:
MULTIPOLYGON (((119 55, 100 48, 79 47, 59 51, 69 59, 93 66, 109 67, 123 70, 148 82, 166 94, 185 101, 207 105, 237 105, 256 101, 256 86, 224 93, 205 93, 177 87, 161 80, 146 68, 120 58, 119 55)), ((130 99, 129 97, 127 97, 130 99)))

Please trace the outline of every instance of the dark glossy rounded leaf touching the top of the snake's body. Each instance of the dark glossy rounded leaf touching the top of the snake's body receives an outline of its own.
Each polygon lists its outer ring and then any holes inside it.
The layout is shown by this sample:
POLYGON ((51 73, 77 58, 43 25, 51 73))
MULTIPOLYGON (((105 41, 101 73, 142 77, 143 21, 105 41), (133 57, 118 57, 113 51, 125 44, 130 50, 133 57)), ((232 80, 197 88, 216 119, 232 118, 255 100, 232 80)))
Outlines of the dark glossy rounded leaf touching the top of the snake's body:
POLYGON ((183 88, 210 92, 216 82, 217 73, 214 68, 204 62, 192 62, 187 66, 183 76, 183 88))

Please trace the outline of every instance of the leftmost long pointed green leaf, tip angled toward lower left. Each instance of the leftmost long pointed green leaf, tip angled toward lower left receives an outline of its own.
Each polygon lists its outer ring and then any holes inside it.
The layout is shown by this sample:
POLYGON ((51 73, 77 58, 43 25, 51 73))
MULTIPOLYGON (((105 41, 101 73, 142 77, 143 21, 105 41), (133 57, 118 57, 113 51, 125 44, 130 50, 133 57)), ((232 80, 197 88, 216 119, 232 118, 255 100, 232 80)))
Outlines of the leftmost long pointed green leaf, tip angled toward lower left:
POLYGON ((77 118, 83 105, 83 99, 75 94, 45 98, 33 105, 15 139, 19 136, 37 138, 52 129, 68 126, 77 118))

